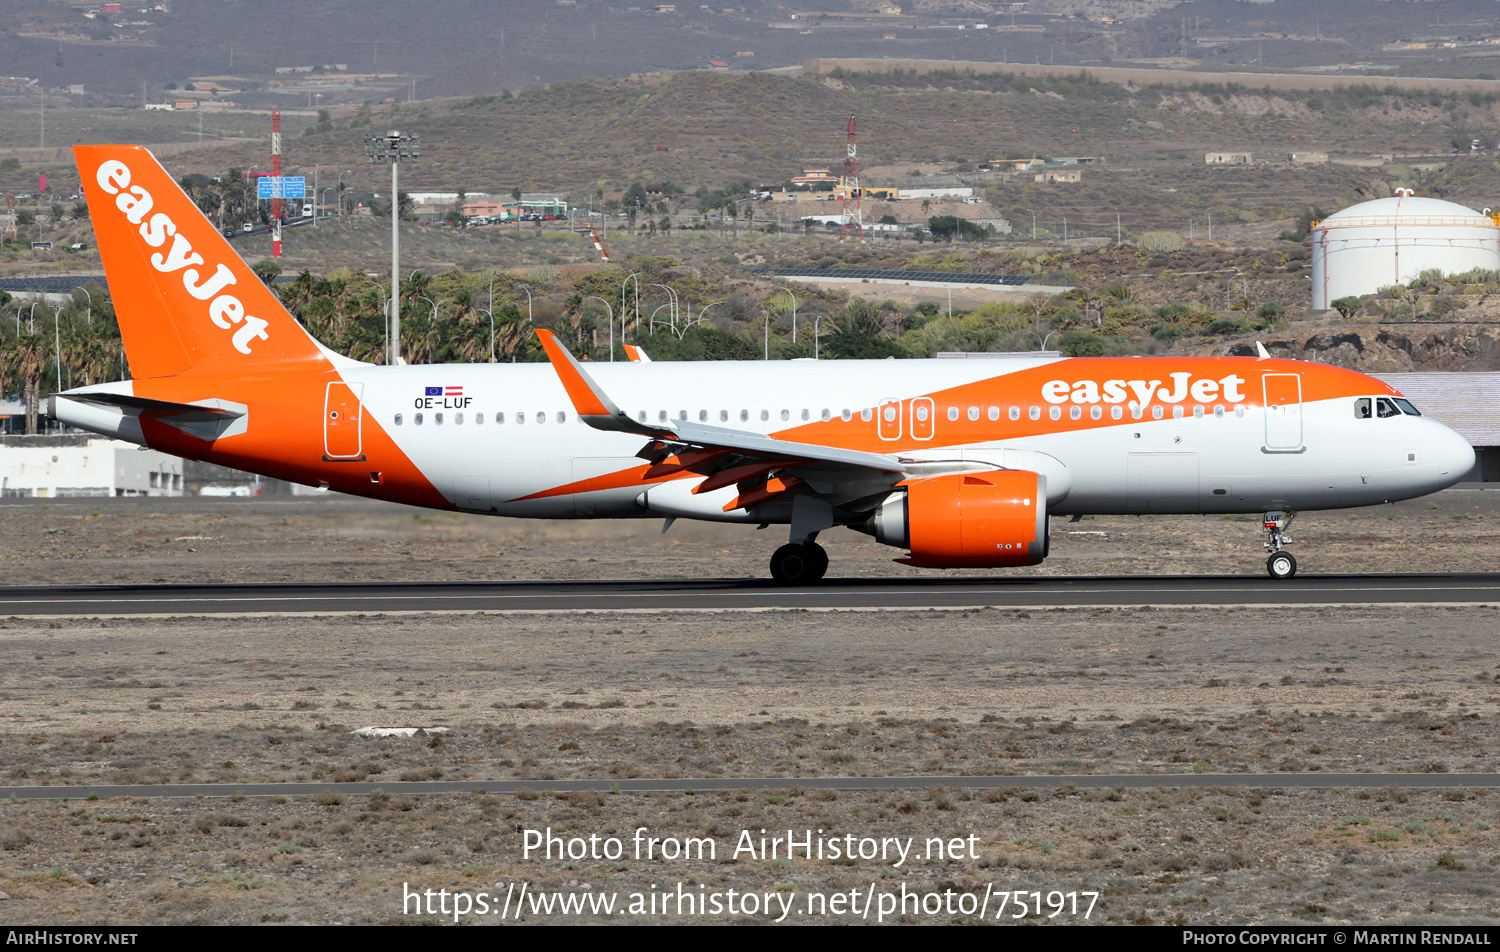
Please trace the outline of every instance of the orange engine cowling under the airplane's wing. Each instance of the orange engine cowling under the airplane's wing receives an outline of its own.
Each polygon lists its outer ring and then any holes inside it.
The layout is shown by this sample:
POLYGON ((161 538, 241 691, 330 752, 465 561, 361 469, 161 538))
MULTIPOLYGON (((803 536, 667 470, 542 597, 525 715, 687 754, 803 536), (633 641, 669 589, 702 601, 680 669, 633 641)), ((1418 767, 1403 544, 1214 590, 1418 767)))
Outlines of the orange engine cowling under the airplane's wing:
POLYGON ((922 568, 1000 568, 1047 558, 1047 477, 1024 469, 908 480, 874 514, 874 537, 922 568))

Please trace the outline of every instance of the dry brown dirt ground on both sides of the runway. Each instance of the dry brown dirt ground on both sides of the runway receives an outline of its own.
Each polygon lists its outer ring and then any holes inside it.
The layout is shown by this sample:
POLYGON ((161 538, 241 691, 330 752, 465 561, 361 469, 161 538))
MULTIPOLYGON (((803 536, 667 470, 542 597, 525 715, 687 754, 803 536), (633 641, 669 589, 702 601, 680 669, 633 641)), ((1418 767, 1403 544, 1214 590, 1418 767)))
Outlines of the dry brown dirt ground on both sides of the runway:
MULTIPOLYGON (((1496 520, 1500 493, 1466 487, 1305 514, 1296 552, 1310 573, 1488 571, 1496 520)), ((1036 571, 1263 571, 1254 522, 1056 528, 1036 571)), ((776 541, 324 498, 0 505, 12 583, 735 577, 762 574, 776 541)), ((908 571, 862 537, 825 541, 831 574, 908 571)), ((404 907, 408 889, 434 889, 447 891, 434 892, 435 910, 459 892, 474 909, 482 891, 495 907, 513 900, 504 916, 471 910, 464 922, 508 922, 518 909, 528 922, 604 918, 534 906, 558 895, 614 897, 612 921, 644 903, 632 922, 768 922, 782 901, 800 922, 974 922, 987 892, 994 921, 999 892, 1038 891, 1026 921, 1040 901, 1052 924, 1494 924, 1500 835, 1486 790, 832 793, 792 778, 1496 772, 1497 619, 1478 606, 4 619, 0 783, 442 778, 534 790, 4 802, 0 922, 452 922, 404 907), (362 726, 450 730, 350 735, 362 726), (548 792, 570 777, 714 775, 788 786, 548 792), (526 831, 549 828, 580 843, 616 837, 622 855, 526 856, 526 831), (638 856, 639 828, 706 838, 714 856, 638 856), (914 838, 914 855, 735 853, 742 832, 759 846, 762 829, 914 838), (928 856, 928 838, 963 849, 928 856), (678 889, 720 907, 651 907, 678 889), (730 889, 738 906, 724 907, 730 889), (818 906, 850 891, 854 912, 818 906), (934 898, 880 906, 902 891, 934 898), (1064 906, 1053 919, 1050 894, 1064 906)), ((1010 901, 1000 921, 1016 912, 1010 901)))

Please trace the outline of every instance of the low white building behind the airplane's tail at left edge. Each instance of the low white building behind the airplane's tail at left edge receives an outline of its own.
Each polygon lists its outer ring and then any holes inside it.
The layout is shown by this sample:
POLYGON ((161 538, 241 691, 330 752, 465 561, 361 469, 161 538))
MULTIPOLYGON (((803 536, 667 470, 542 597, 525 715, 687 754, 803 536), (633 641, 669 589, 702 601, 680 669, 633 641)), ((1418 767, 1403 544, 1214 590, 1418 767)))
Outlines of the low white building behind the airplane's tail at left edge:
POLYGON ((0 496, 180 496, 183 460, 92 435, 0 436, 0 496))

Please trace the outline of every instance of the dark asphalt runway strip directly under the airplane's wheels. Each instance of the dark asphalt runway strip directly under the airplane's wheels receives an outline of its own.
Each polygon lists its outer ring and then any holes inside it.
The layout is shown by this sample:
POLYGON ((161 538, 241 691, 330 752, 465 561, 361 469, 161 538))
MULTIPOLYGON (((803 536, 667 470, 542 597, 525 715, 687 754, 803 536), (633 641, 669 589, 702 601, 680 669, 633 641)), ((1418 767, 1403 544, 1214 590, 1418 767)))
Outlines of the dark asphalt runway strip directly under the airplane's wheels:
POLYGON ((306 585, 0 586, 0 615, 358 615, 430 612, 724 612, 1052 607, 1500 606, 1500 573, 1370 576, 1071 576, 306 585))

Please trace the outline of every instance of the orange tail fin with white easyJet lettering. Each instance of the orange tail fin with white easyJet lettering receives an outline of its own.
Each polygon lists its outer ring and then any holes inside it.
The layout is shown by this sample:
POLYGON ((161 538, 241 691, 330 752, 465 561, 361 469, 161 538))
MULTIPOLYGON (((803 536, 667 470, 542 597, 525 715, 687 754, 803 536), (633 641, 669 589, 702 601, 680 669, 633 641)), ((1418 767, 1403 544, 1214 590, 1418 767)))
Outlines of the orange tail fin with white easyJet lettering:
POLYGON ((132 375, 324 360, 150 151, 75 145, 74 156, 132 375))

